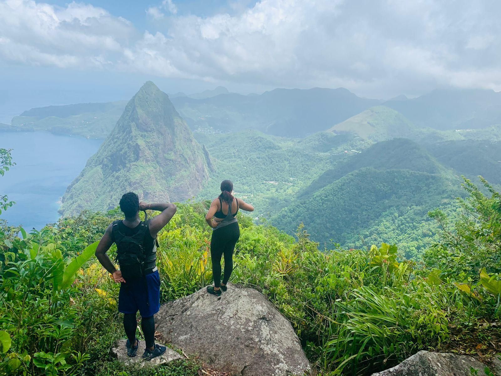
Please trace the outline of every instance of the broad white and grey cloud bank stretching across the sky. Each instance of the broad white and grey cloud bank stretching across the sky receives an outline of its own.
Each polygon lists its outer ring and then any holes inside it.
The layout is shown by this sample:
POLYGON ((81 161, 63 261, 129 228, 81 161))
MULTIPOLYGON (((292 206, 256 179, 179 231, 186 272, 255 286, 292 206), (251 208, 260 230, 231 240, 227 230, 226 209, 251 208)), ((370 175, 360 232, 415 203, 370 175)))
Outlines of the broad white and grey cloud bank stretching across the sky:
POLYGON ((234 15, 146 10, 137 33, 102 8, 0 0, 0 60, 364 95, 436 86, 501 90, 501 3, 262 0, 234 15), (152 27, 165 27, 152 26, 152 27))

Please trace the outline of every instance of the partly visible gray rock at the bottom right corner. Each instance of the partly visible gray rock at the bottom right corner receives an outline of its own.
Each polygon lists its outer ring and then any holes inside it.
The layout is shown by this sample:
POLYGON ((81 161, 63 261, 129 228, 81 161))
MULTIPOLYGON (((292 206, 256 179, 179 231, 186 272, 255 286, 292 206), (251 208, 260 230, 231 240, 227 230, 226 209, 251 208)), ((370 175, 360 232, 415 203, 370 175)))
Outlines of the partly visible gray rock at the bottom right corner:
POLYGON ((372 376, 471 376, 471 368, 484 376, 485 364, 467 355, 419 351, 397 366, 372 376))

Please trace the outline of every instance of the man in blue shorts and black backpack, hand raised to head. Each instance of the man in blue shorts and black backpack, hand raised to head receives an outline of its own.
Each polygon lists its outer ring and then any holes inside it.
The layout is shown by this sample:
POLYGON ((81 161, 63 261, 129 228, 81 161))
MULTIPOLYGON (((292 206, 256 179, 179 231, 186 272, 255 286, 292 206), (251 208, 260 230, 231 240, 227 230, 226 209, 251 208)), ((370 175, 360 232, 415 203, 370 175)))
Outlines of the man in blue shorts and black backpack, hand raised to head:
POLYGON ((123 221, 114 221, 104 233, 96 249, 101 265, 120 282, 118 311, 124 314, 127 334, 127 355, 136 356, 139 340, 136 338, 137 311, 141 314, 141 328, 146 349, 143 358, 151 360, 163 354, 165 346, 155 344, 155 320, 153 315, 160 309, 160 276, 156 267, 157 234, 176 213, 173 204, 145 204, 135 193, 129 192, 120 199, 123 221), (139 211, 157 210, 160 213, 147 221, 141 221, 139 211), (106 252, 117 245, 120 270, 116 270, 106 252))

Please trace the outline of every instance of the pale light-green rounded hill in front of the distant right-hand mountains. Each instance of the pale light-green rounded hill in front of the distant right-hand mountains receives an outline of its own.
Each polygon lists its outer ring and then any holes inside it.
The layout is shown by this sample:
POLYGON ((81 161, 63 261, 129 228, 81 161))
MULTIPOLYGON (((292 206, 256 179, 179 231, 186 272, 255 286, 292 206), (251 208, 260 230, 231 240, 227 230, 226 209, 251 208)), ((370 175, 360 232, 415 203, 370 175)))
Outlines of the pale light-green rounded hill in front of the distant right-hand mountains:
POLYGON ((330 132, 352 133, 364 140, 384 141, 395 137, 409 137, 414 126, 401 113, 386 106, 371 107, 336 124, 330 132))

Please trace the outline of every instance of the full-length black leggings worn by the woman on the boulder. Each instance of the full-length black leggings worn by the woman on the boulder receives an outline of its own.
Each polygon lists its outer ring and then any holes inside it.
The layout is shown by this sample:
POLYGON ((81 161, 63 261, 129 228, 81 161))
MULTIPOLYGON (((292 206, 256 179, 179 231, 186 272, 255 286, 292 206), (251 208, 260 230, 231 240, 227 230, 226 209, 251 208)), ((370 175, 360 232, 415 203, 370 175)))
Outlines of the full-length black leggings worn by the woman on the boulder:
POLYGON ((214 276, 214 287, 221 286, 221 257, 224 255, 224 278, 222 283, 226 284, 233 271, 233 250, 240 237, 238 223, 232 223, 221 228, 216 228, 212 232, 210 240, 210 257, 212 259, 212 275, 214 276))

